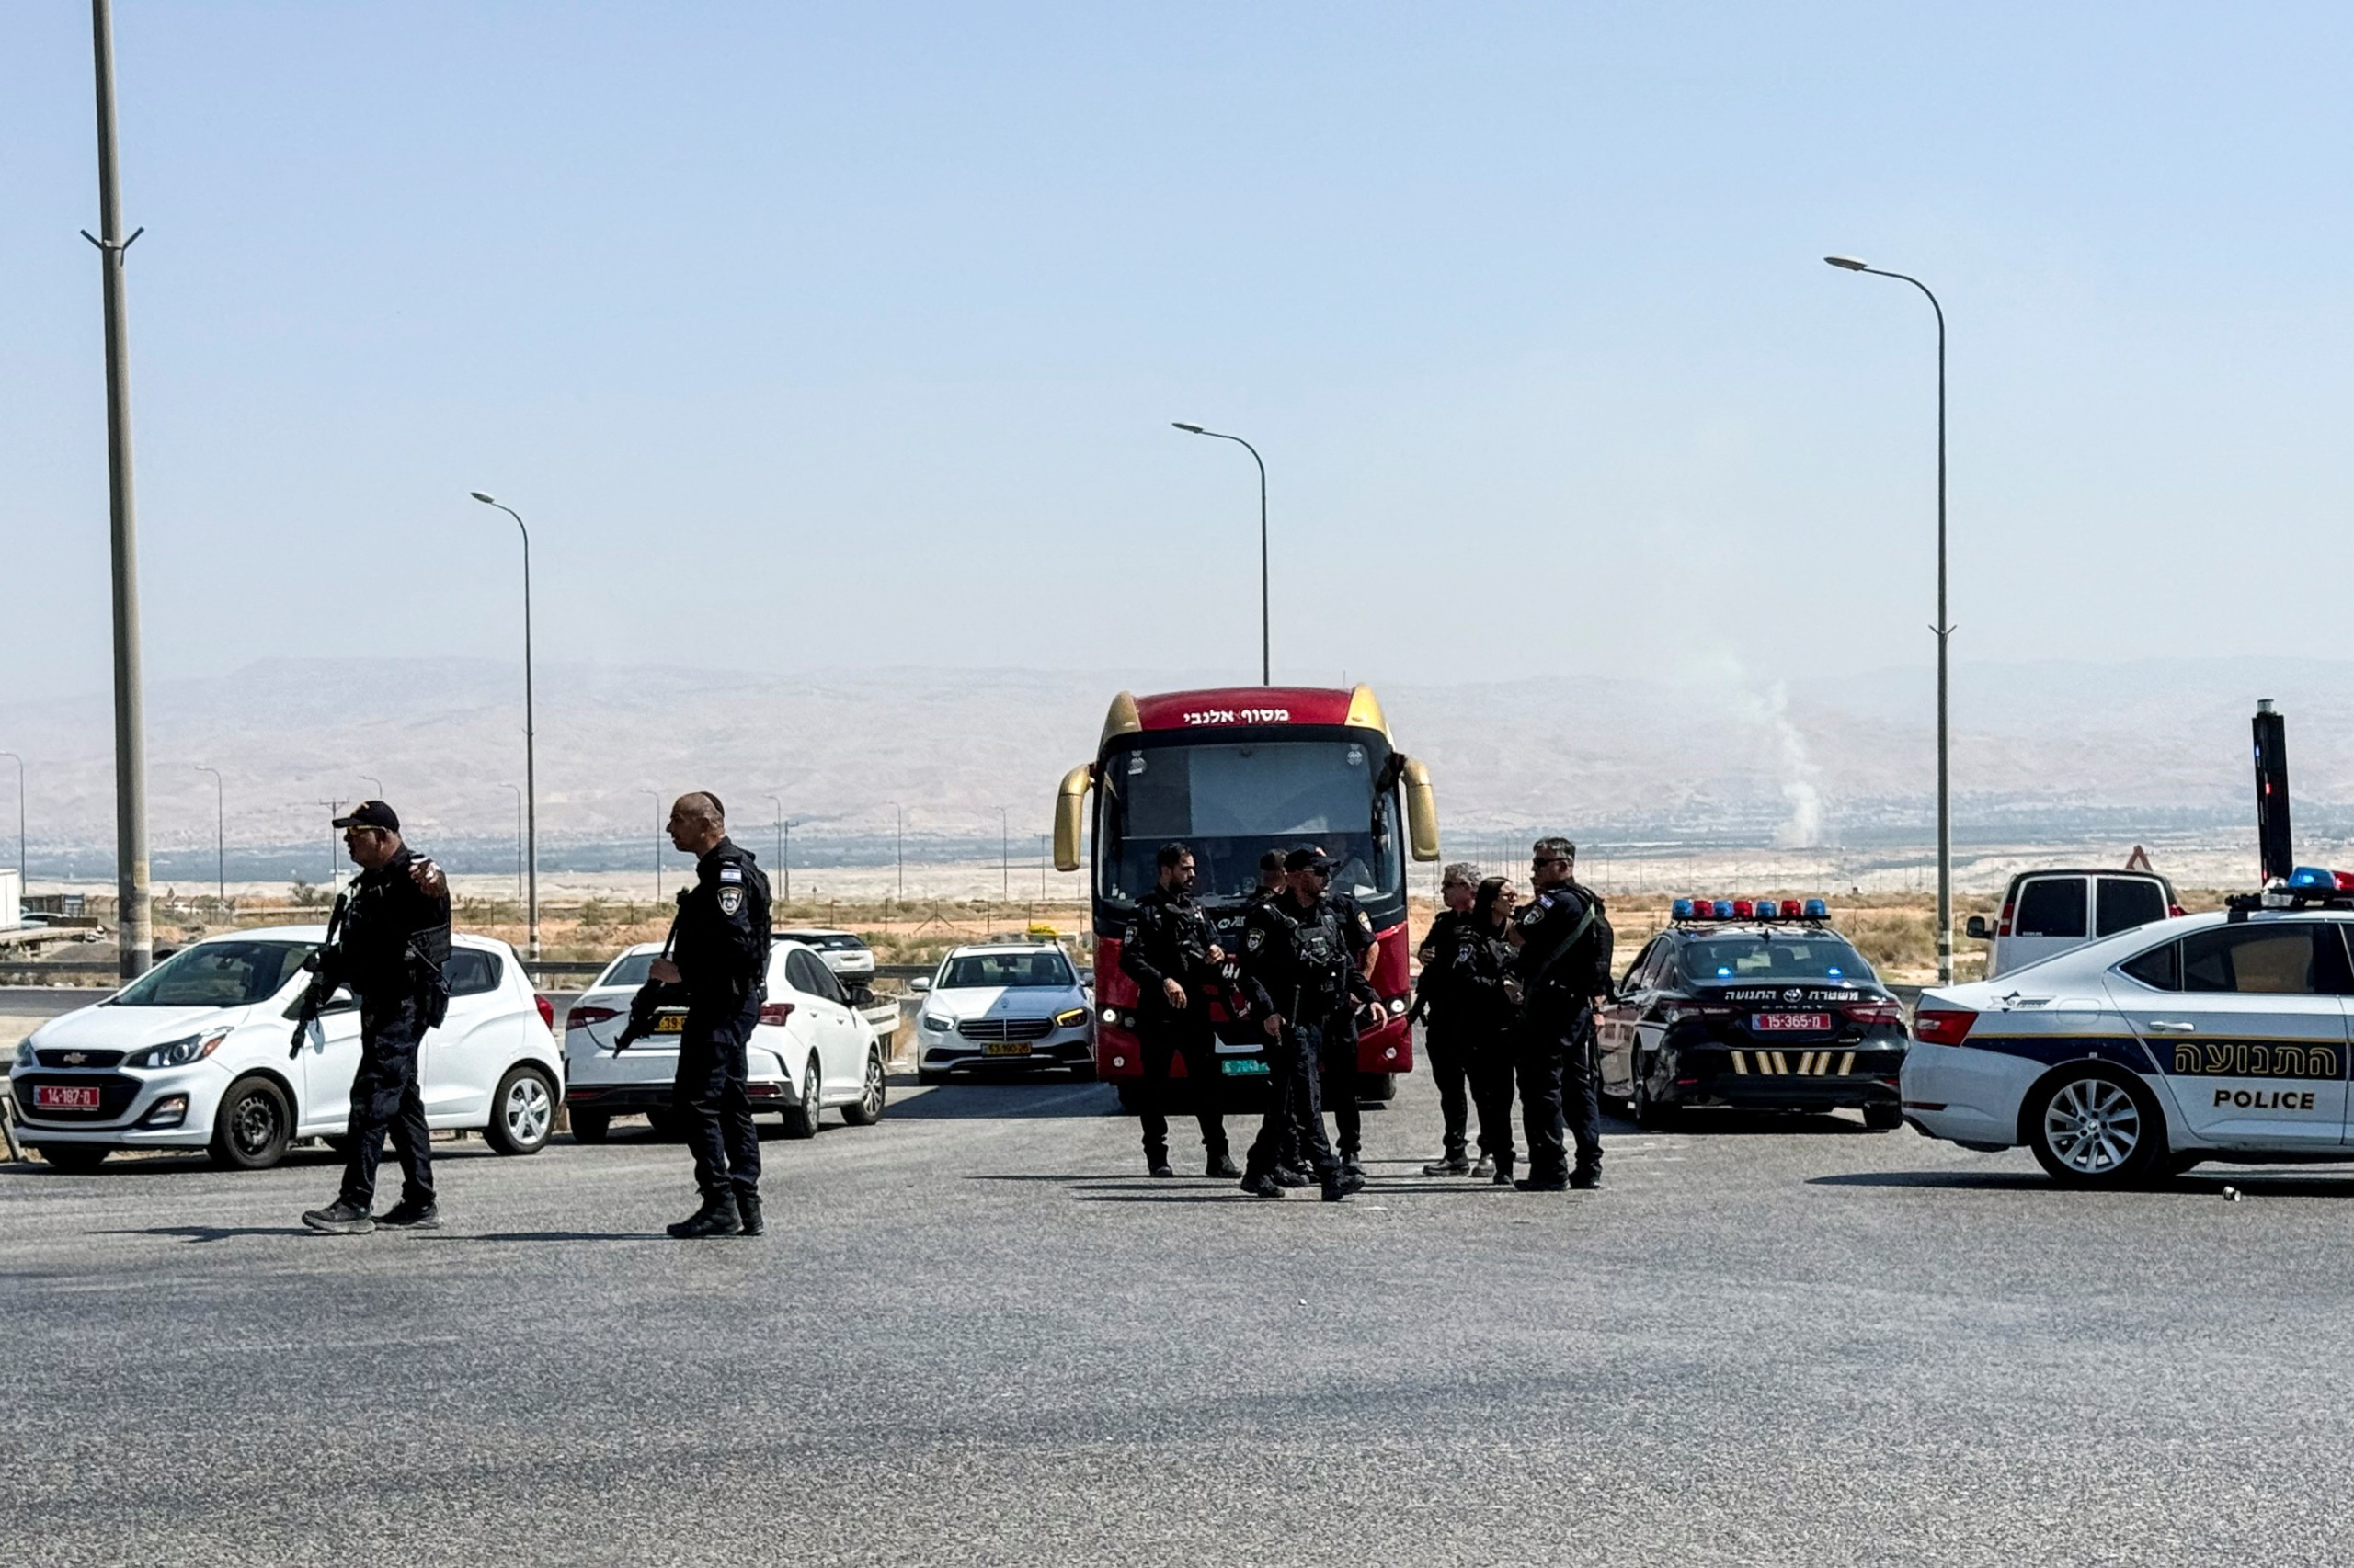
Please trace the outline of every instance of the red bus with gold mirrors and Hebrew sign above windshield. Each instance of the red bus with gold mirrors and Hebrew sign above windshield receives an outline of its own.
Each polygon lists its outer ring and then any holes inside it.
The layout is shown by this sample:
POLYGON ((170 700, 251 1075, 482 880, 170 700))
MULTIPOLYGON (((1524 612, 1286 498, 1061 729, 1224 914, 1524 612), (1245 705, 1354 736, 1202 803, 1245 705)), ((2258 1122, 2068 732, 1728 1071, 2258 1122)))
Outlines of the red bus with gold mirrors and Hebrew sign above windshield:
MULTIPOLYGON (((1135 1034, 1137 986, 1121 972, 1121 937, 1137 895, 1153 885, 1156 850, 1170 841, 1193 850, 1196 897, 1229 951, 1238 946, 1259 857, 1321 845, 1335 864, 1332 890, 1356 897, 1379 942, 1372 989, 1382 998, 1382 1024, 1358 1045, 1361 1092, 1389 1099, 1396 1074, 1412 1071, 1405 862, 1438 859, 1438 810, 1429 770, 1396 749, 1370 687, 1121 692, 1095 760, 1062 779, 1055 800, 1059 871, 1080 869, 1083 841, 1092 841, 1095 1071, 1123 1102, 1135 1099, 1144 1062, 1135 1034), (1092 833, 1085 831, 1090 822, 1092 833)), ((1219 1043, 1224 1076, 1264 1078, 1266 1043, 1250 1029, 1231 1034, 1245 1038, 1219 1043)), ((1184 1076, 1184 1062, 1172 1071, 1184 1076)))

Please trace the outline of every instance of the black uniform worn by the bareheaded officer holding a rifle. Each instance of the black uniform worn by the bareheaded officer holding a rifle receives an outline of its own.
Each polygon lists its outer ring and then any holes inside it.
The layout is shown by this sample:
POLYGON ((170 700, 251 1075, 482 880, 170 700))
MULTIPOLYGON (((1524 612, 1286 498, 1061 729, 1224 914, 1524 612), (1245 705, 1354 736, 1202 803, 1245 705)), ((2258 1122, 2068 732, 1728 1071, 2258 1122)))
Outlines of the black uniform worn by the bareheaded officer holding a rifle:
POLYGON ((767 998, 767 878, 751 850, 720 838, 678 895, 671 963, 687 994, 671 1107, 694 1151, 704 1201, 760 1196, 760 1135, 744 1095, 744 1043, 767 998))

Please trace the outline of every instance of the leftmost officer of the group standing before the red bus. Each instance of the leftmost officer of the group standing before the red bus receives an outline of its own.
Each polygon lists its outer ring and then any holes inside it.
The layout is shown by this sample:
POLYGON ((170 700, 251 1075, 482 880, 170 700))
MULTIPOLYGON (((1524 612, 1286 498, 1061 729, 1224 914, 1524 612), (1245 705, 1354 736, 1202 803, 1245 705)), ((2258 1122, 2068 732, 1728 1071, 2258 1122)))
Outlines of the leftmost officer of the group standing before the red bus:
POLYGON ((1184 1057, 1201 1121, 1205 1175, 1238 1177, 1226 1151, 1226 1118, 1217 1109, 1217 1034, 1210 1029, 1210 991, 1219 989, 1226 949, 1210 918, 1193 902, 1193 850, 1161 845, 1161 885, 1137 899, 1137 918, 1121 944, 1121 972, 1137 982, 1137 1038, 1144 1045, 1144 1168, 1170 1170, 1170 1062, 1184 1057))

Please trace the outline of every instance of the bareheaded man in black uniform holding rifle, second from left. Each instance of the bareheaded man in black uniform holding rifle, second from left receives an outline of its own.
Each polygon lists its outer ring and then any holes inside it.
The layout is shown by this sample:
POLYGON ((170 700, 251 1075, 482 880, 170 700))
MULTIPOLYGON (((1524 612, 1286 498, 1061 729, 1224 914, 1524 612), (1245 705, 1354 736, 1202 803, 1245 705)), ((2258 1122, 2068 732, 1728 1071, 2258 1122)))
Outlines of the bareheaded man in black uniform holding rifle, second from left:
POLYGON ((694 885, 678 895, 671 956, 647 984, 687 994, 671 1109, 685 1121, 704 1205, 671 1236, 758 1236, 760 1135, 744 1095, 744 1043, 767 998, 767 876, 727 838, 727 812, 709 791, 671 805, 671 843, 694 857, 694 885))

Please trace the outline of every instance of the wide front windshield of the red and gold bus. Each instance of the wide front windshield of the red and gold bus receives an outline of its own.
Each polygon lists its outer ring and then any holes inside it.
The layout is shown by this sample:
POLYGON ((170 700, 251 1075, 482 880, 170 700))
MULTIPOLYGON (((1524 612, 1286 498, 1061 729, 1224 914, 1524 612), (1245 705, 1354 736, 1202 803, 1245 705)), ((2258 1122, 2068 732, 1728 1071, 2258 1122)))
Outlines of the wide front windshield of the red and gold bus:
POLYGON ((1179 742, 1113 751, 1102 768, 1097 876, 1106 899, 1153 885, 1153 857, 1184 843, 1201 869, 1196 895, 1238 899, 1259 881, 1259 855, 1318 845, 1332 890, 1396 904, 1405 857, 1396 798, 1377 791, 1389 749, 1377 739, 1179 742))

